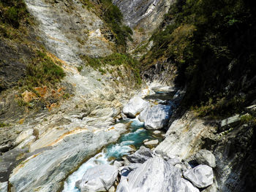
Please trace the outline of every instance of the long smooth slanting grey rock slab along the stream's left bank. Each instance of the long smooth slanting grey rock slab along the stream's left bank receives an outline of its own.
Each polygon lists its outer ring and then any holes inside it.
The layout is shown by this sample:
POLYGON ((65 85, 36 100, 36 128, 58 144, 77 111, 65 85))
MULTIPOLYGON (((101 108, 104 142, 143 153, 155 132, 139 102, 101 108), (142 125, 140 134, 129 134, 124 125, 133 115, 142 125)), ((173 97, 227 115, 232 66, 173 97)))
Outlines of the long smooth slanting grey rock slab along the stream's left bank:
POLYGON ((96 132, 81 130, 79 134, 64 137, 52 149, 31 156, 14 169, 10 176, 12 191, 58 191, 61 181, 84 158, 93 155, 108 143, 116 142, 124 131, 126 126, 119 126, 96 132))

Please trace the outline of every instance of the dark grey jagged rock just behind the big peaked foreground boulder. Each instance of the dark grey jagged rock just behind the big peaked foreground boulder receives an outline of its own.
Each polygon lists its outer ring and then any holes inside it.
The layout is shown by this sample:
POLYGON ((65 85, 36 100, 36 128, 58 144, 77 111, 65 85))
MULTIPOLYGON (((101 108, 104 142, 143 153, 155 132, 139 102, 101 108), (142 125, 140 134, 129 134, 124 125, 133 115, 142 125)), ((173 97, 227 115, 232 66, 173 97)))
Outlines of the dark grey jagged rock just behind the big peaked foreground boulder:
POLYGON ((141 146, 139 150, 137 150, 132 155, 127 155, 127 160, 131 163, 140 163, 143 164, 149 158, 153 157, 153 153, 150 149, 141 146))

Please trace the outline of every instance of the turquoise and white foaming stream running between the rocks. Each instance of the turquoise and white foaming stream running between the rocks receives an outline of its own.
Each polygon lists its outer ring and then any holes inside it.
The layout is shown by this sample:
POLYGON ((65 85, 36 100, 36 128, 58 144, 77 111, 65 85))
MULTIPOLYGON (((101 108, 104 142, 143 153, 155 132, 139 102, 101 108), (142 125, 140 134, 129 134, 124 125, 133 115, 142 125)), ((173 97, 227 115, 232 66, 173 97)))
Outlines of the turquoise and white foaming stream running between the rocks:
POLYGON ((132 151, 138 150, 145 139, 158 139, 162 142, 161 134, 154 135, 153 131, 143 128, 143 123, 139 120, 123 120, 122 123, 132 123, 129 125, 129 133, 123 134, 116 144, 110 144, 102 152, 86 161, 80 168, 69 175, 64 183, 63 192, 80 192, 75 187, 75 182, 81 180, 86 170, 99 164, 111 164, 114 160, 121 160, 121 157, 128 155, 132 151))

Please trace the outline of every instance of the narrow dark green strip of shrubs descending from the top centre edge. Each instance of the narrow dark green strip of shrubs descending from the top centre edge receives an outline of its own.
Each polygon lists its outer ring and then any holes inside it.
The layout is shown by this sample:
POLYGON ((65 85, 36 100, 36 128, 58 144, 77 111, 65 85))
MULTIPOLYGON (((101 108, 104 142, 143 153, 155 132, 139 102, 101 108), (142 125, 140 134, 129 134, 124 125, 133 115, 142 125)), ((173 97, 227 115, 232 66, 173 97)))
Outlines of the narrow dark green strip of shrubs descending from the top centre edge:
POLYGON ((124 52, 127 46, 127 39, 132 40, 132 29, 122 25, 123 15, 111 0, 100 0, 100 2, 102 4, 102 18, 113 32, 118 50, 124 52))

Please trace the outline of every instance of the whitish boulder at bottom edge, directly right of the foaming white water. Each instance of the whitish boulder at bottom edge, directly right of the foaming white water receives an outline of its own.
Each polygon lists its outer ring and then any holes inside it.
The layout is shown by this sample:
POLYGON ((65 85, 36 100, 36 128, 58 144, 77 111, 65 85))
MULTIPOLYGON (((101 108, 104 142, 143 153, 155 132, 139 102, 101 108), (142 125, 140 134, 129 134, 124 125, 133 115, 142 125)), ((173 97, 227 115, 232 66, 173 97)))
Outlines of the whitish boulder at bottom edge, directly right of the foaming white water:
POLYGON ((83 179, 78 183, 81 192, 108 191, 113 185, 118 174, 116 166, 102 164, 88 169, 83 179))

